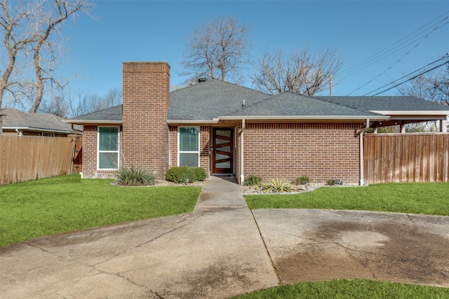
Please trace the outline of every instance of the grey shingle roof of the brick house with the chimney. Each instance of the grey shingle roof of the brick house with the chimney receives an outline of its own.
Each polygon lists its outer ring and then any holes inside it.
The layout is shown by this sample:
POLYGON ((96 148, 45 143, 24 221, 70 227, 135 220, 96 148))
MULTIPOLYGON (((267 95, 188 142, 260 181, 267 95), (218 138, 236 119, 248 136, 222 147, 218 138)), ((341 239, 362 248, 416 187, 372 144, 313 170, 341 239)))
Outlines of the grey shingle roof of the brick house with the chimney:
MULTIPOLYGON (((168 123, 217 123, 241 118, 371 119, 391 115, 446 115, 449 107, 417 97, 306 97, 292 92, 268 95, 234 83, 210 80, 170 92, 168 123)), ((77 116, 67 123, 122 123, 122 106, 77 116)))

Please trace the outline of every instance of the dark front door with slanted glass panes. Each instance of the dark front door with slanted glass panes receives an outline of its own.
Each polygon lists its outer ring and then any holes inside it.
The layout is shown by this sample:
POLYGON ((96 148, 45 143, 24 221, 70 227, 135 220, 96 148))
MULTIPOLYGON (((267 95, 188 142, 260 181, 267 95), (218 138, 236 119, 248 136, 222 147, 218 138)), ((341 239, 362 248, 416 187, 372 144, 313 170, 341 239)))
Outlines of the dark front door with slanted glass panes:
POLYGON ((214 174, 232 174, 233 132, 232 127, 214 127, 212 130, 212 172, 214 174))

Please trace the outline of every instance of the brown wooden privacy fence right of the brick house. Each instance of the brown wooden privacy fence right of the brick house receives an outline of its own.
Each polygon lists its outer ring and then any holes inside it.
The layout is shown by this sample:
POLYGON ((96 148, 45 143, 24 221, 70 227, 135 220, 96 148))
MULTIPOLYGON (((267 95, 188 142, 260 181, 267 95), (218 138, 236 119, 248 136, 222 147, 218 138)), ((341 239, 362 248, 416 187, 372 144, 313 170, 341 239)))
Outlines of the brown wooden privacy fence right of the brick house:
POLYGON ((448 182, 449 134, 366 134, 368 183, 448 182))

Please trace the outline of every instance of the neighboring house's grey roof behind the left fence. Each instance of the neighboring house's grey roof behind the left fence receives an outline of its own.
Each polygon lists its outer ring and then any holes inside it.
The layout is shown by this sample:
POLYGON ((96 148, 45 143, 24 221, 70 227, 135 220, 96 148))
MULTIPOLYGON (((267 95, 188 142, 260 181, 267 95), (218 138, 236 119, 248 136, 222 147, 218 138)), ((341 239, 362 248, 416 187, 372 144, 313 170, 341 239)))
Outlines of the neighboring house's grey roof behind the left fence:
POLYGON ((3 130, 29 130, 35 132, 54 132, 63 134, 80 134, 82 125, 62 123, 63 118, 49 113, 25 113, 18 109, 1 109, 3 130))

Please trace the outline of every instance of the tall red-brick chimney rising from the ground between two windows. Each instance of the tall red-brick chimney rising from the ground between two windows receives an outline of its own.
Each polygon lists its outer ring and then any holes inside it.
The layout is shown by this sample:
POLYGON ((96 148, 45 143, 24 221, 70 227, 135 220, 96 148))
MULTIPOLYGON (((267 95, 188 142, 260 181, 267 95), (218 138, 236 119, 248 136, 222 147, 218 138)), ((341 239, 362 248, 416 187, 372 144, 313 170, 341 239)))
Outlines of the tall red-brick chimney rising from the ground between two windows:
POLYGON ((170 66, 123 62, 123 166, 142 166, 163 179, 168 168, 170 66))

